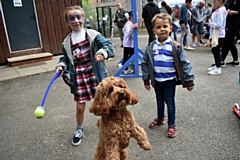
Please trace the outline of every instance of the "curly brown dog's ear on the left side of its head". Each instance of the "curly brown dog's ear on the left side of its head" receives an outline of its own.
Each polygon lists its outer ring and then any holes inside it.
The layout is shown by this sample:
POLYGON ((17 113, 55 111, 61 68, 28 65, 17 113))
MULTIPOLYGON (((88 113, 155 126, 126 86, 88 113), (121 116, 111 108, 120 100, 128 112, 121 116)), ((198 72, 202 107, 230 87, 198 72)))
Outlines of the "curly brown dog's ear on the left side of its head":
POLYGON ((104 116, 109 114, 109 107, 106 102, 106 96, 108 94, 107 86, 108 84, 104 82, 101 82, 98 85, 94 101, 89 108, 89 112, 95 114, 96 116, 104 116))

